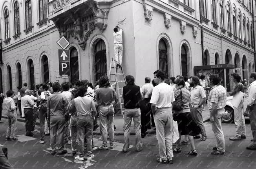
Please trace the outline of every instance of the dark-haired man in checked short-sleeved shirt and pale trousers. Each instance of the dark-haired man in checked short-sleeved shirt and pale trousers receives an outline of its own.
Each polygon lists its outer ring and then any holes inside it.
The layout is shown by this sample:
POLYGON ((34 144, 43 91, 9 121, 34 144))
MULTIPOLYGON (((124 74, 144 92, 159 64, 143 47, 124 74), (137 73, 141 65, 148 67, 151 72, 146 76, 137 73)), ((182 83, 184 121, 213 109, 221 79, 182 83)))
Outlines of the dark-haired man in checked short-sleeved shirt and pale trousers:
POLYGON ((208 109, 210 110, 210 122, 215 134, 217 144, 213 147, 211 154, 219 155, 225 153, 225 138, 221 127, 221 119, 225 113, 224 107, 227 103, 226 89, 220 85, 220 78, 216 74, 210 75, 212 89, 208 96, 208 109))

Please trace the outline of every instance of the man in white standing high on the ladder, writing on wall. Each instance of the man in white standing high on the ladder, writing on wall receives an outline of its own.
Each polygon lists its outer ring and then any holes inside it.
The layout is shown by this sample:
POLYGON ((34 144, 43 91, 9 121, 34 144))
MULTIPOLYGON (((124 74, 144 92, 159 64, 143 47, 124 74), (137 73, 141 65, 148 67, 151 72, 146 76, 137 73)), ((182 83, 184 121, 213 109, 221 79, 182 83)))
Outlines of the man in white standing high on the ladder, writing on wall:
POLYGON ((123 29, 119 26, 114 28, 114 54, 115 54, 115 63, 116 68, 121 68, 122 66, 122 58, 123 58, 123 29), (119 31, 118 31, 119 28, 119 31))

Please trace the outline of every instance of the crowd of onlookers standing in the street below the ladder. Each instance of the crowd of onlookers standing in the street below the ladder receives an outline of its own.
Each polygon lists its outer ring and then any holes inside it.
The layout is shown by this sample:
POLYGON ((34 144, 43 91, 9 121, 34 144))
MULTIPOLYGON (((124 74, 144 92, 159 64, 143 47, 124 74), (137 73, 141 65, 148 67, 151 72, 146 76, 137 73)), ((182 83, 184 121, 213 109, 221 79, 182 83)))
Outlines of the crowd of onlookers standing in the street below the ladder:
MULTIPOLYGON (((220 85, 218 75, 176 76, 166 79, 165 73, 157 70, 154 80, 145 78, 142 87, 135 85, 132 75, 126 76, 127 84, 123 87, 124 99, 124 146, 127 152, 130 146, 131 122, 134 122, 135 148, 142 151, 142 138, 146 136, 147 129, 155 127, 159 146, 157 162, 163 164, 173 163, 173 153, 180 153, 181 144, 190 145, 189 155, 196 156, 197 150, 194 139, 207 140, 207 133, 203 123, 202 112, 205 109, 207 95, 204 87, 210 86, 207 105, 210 111, 212 131, 216 137, 216 146, 211 154, 225 153, 225 139, 221 127, 221 119, 225 113, 227 102, 226 89, 220 85), (207 82, 209 84, 207 84, 207 82), (201 134, 201 137, 200 137, 201 134), (184 140, 181 136, 184 135, 184 140)), ((241 76, 232 75, 236 84, 230 95, 245 92, 241 84, 241 76)), ((252 145, 247 149, 256 150, 256 73, 251 73, 249 87, 249 101, 245 115, 250 116, 253 139, 252 145), (255 111, 254 111, 255 110, 255 111)), ((18 87, 17 97, 13 91, 7 91, 4 99, 4 108, 7 110, 9 123, 6 140, 15 138, 16 109, 20 116, 26 120, 26 136, 33 136, 35 121, 40 119, 40 144, 44 144, 45 128, 49 128, 51 154, 67 153, 64 142, 71 144, 75 160, 91 160, 95 149, 108 150, 115 148, 114 114, 115 106, 119 102, 117 93, 110 85, 107 76, 102 76, 95 89, 88 80, 81 80, 70 85, 69 82, 59 82, 36 85, 34 90, 18 87), (90 87, 91 86, 91 87, 90 87), (15 99, 17 100, 15 102, 15 99), (16 104, 17 103, 17 104, 16 104), (97 129, 99 118, 102 145, 93 145, 93 130, 97 129), (109 144, 108 146, 108 135, 109 144), (84 153, 85 152, 85 153, 84 153)), ((242 101, 234 109, 234 122, 236 133, 230 140, 246 138, 245 120, 242 112, 242 101)))

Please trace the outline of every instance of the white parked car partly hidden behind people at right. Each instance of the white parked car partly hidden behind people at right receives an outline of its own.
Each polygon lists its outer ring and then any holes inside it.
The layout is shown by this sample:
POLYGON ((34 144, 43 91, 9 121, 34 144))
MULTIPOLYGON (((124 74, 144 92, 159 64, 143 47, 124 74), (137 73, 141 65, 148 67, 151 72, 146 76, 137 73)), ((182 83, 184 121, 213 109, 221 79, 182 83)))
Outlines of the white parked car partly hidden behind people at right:
MULTIPOLYGON (((232 98, 233 98, 233 96, 227 97, 227 105, 225 107, 225 114, 222 118, 223 123, 234 123, 234 107, 231 103, 232 98)), ((243 98, 242 113, 245 111, 245 109, 247 107, 247 100, 248 100, 248 94, 245 94, 245 97, 243 98)), ((245 116, 245 120, 249 120, 249 116, 245 116)))

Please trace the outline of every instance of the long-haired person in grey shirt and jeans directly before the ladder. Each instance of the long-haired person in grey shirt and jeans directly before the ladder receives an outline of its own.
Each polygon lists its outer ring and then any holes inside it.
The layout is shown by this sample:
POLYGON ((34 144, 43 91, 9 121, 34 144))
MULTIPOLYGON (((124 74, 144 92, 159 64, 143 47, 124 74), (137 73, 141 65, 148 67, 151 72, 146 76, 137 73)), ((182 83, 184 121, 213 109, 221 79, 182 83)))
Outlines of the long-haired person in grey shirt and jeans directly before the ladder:
POLYGON ((117 94, 115 89, 111 87, 108 76, 101 76, 99 79, 99 89, 96 92, 96 101, 99 103, 100 129, 102 134, 101 150, 108 149, 108 132, 110 137, 110 148, 115 145, 114 140, 114 107, 113 102, 117 103, 117 94))

